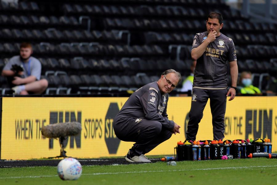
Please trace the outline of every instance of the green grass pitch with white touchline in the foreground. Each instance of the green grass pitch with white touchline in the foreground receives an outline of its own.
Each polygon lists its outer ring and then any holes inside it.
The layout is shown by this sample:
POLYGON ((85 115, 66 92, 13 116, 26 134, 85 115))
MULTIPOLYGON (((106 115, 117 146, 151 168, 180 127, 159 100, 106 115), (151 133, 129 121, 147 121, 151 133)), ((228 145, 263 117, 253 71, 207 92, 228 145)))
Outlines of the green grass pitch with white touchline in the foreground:
POLYGON ((276 184, 277 159, 253 158, 83 166, 78 180, 63 181, 56 167, 0 168, 1 185, 263 185, 276 184))

